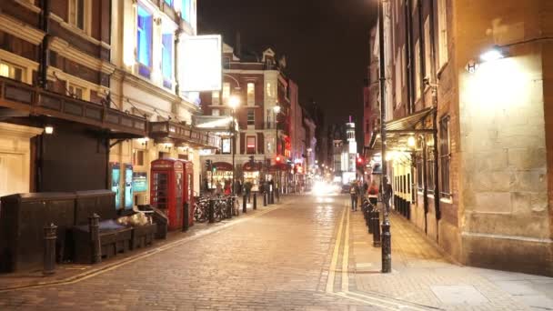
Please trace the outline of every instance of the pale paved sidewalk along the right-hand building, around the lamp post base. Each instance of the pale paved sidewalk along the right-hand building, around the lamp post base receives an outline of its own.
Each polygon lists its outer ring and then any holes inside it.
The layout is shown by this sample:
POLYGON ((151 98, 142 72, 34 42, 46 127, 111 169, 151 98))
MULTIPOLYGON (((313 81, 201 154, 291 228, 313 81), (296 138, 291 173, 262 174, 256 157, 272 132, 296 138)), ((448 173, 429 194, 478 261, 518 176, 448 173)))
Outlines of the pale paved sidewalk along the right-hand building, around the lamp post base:
POLYGON ((350 291, 445 310, 553 310, 553 278, 457 266, 397 215, 391 216, 393 271, 382 274, 381 248, 372 246, 362 213, 349 216, 350 291))

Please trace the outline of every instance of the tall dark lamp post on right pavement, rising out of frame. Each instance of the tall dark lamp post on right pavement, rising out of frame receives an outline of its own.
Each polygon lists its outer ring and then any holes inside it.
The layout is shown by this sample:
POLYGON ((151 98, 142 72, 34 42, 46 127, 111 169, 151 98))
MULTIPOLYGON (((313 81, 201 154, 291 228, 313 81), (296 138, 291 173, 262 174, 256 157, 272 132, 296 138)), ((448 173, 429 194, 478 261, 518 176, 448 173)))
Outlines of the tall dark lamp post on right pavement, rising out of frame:
POLYGON ((378 0, 378 48, 379 48, 379 72, 380 72, 380 137, 382 140, 382 200, 384 201, 382 221, 382 273, 392 272, 392 236, 390 233, 390 196, 392 195, 391 185, 387 182, 386 162, 386 62, 384 61, 384 1, 378 0))

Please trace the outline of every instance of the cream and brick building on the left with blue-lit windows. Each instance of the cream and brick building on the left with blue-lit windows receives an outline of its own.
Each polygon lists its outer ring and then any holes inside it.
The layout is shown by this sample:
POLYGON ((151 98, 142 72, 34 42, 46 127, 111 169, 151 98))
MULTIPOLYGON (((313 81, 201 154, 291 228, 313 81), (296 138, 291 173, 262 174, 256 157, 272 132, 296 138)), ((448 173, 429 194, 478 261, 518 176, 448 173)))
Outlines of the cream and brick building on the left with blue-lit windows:
POLYGON ((196 1, 10 0, 0 18, 0 196, 112 189, 132 208, 149 203, 151 161, 197 167, 220 145, 178 88, 196 1))

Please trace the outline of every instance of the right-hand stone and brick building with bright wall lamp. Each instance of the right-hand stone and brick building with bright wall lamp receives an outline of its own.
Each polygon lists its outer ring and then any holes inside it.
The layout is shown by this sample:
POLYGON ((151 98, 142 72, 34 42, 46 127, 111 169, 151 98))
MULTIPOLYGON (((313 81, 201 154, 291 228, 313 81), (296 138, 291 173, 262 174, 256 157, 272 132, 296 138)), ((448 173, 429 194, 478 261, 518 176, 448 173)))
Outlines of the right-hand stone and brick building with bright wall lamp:
POLYGON ((553 6, 388 4, 396 210, 463 264, 553 275, 553 6))

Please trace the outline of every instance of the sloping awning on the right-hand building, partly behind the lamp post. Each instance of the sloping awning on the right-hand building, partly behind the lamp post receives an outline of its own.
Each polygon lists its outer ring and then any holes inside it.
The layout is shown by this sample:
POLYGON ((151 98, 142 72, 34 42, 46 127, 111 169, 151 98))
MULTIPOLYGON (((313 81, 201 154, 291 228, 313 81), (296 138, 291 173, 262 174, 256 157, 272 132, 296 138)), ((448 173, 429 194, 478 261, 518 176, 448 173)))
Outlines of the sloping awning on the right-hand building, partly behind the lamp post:
MULTIPOLYGON (((387 122, 386 146, 387 150, 408 148, 407 139, 414 135, 431 135, 436 132, 429 117, 436 112, 436 108, 426 108, 412 115, 387 122)), ((382 151, 380 132, 374 132, 369 145, 365 146, 365 156, 374 156, 382 151)))

